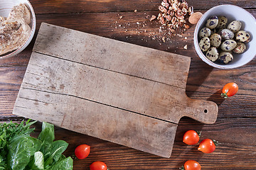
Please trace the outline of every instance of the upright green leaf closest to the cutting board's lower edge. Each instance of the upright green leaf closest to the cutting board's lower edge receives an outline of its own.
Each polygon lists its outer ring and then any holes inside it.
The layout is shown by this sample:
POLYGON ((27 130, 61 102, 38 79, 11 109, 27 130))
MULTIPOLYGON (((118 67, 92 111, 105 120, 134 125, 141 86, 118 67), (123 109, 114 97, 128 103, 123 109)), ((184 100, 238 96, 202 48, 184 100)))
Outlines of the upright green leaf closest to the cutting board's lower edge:
POLYGON ((43 143, 40 149, 40 151, 43 152, 43 154, 46 154, 46 150, 53 143, 54 139, 54 125, 43 122, 42 132, 38 136, 38 140, 41 140, 41 142, 43 143))

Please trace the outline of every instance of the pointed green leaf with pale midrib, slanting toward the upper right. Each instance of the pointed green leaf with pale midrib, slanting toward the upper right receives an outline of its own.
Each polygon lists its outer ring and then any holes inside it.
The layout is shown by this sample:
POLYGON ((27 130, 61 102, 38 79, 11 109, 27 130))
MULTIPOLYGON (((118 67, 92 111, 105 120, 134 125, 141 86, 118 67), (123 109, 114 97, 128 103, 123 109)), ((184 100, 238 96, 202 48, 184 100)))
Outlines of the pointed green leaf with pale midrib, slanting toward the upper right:
POLYGON ((65 151, 65 149, 67 149, 67 147, 68 147, 68 143, 65 142, 64 140, 54 141, 53 144, 50 145, 48 151, 46 152, 45 166, 53 164, 53 160, 57 162, 61 154, 65 151))

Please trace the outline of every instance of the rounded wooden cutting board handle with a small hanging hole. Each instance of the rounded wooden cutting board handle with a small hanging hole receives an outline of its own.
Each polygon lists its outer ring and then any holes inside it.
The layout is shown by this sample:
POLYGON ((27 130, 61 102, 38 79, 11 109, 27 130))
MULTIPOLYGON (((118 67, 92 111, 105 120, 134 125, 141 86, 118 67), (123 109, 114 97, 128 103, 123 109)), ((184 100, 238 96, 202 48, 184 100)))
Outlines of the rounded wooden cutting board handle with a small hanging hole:
POLYGON ((186 116, 198 120, 201 123, 213 124, 217 120, 218 106, 213 101, 201 101, 188 98, 186 116))

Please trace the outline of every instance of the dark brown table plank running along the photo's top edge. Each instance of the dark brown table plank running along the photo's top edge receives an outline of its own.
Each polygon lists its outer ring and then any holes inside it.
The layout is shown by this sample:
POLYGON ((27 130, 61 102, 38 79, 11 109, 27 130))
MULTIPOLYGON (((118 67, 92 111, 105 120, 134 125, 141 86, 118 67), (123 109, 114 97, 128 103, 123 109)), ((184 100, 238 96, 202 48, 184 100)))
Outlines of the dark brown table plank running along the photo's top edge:
MULTIPOLYGON (((195 9, 212 8, 220 4, 233 4, 242 8, 255 8, 255 1, 201 1, 187 0, 189 6, 195 9)), ((54 3, 48 0, 33 0, 31 1, 36 13, 74 13, 74 12, 116 12, 116 11, 158 11, 158 6, 161 4, 159 0, 143 1, 143 0, 55 0, 54 3)))

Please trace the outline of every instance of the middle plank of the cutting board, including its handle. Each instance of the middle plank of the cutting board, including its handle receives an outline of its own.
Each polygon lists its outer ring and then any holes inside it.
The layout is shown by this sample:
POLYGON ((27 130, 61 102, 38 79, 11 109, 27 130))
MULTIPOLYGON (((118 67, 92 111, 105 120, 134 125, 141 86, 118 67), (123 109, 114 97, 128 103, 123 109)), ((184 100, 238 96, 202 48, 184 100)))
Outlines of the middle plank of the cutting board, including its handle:
POLYGON ((77 96, 172 123, 184 115, 214 123, 218 113, 215 103, 189 99, 178 87, 37 53, 31 57, 22 89, 77 96))

